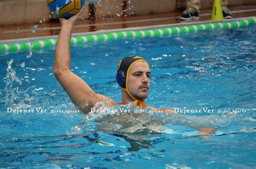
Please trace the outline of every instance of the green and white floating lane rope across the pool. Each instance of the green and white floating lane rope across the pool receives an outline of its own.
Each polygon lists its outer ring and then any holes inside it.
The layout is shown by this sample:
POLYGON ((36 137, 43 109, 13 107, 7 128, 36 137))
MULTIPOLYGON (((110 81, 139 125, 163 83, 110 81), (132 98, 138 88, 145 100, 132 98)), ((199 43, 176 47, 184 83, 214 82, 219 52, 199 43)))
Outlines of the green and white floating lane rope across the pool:
MULTIPOLYGON (((170 36, 185 33, 196 33, 204 30, 218 30, 218 29, 238 29, 245 28, 248 25, 256 23, 256 17, 250 17, 245 19, 238 19, 236 21, 228 22, 221 21, 217 23, 204 23, 194 25, 183 25, 183 26, 169 26, 167 28, 156 28, 149 30, 132 30, 132 31, 117 31, 109 33, 99 32, 95 35, 84 35, 75 36, 70 40, 71 46, 77 44, 84 44, 90 42, 106 42, 114 39, 122 38, 144 38, 144 37, 160 37, 170 36)), ((28 50, 39 50, 55 46, 57 38, 50 38, 44 40, 37 40, 30 43, 6 43, 0 44, 0 52, 17 52, 17 51, 28 51, 28 50), (31 48, 32 47, 32 48, 31 48)))

